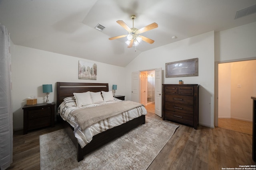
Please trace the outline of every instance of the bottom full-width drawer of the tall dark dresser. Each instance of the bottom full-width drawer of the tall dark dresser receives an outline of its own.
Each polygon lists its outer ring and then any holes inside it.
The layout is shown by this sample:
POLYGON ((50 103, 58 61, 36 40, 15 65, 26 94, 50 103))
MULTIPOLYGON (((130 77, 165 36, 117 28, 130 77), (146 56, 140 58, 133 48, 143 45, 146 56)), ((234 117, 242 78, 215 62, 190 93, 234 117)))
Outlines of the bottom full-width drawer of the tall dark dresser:
POLYGON ((165 111, 165 118, 173 121, 177 121, 180 123, 184 123, 187 125, 194 125, 193 123, 193 115, 188 115, 185 113, 173 112, 173 111, 165 111))

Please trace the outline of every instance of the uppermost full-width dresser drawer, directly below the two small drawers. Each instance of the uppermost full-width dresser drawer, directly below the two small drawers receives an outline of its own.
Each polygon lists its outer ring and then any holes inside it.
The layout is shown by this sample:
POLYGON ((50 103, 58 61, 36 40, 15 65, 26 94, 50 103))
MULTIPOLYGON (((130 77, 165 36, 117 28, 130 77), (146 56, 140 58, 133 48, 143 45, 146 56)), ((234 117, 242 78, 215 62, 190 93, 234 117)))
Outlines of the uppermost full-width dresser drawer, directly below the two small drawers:
POLYGON ((193 96, 165 95, 166 101, 177 104, 193 105, 193 96))

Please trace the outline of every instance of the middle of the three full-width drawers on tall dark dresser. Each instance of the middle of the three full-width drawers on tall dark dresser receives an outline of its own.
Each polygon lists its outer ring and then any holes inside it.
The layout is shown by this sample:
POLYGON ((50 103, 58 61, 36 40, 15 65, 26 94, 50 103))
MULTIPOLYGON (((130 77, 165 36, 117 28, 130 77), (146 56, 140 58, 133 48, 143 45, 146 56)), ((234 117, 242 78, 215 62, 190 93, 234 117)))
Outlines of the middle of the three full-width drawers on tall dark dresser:
POLYGON ((165 102, 165 109, 169 111, 180 112, 180 113, 190 114, 190 115, 193 115, 194 113, 193 106, 183 105, 183 104, 174 104, 170 102, 165 102))

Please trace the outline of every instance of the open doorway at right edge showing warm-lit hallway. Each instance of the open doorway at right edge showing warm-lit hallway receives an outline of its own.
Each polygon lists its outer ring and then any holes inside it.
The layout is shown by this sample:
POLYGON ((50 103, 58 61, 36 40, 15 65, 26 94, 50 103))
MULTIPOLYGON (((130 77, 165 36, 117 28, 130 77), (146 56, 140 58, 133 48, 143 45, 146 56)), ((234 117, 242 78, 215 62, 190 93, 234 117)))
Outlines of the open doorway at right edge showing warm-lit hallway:
POLYGON ((218 64, 218 127, 252 135, 256 60, 218 64))

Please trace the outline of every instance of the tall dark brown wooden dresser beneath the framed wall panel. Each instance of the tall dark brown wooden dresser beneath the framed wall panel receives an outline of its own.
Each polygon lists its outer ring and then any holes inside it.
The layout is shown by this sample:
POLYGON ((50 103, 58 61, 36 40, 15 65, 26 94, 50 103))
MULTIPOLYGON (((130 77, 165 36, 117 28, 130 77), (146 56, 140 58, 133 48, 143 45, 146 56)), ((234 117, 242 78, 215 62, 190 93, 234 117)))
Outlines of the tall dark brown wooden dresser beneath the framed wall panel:
POLYGON ((197 129, 198 84, 163 84, 163 120, 197 129))

